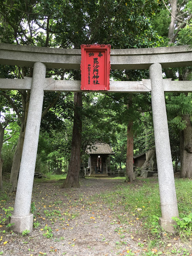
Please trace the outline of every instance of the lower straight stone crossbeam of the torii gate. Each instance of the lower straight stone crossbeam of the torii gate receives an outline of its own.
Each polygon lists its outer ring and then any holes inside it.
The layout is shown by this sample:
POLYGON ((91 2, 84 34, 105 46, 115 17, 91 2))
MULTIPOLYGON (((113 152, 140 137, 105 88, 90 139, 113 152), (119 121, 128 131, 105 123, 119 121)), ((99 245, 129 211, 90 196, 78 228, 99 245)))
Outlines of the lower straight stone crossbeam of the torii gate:
MULTIPOLYGON (((32 83, 31 77, 24 79, 5 79, 0 78, 1 89, 30 89, 32 83)), ((44 91, 81 91, 79 80, 54 80, 45 78, 44 91)), ((192 81, 171 81, 163 79, 164 91, 169 92, 192 92, 192 81)), ((151 91, 150 79, 142 81, 110 81, 110 89, 102 92, 149 92, 151 91)), ((92 92, 92 91, 91 91, 92 92)))

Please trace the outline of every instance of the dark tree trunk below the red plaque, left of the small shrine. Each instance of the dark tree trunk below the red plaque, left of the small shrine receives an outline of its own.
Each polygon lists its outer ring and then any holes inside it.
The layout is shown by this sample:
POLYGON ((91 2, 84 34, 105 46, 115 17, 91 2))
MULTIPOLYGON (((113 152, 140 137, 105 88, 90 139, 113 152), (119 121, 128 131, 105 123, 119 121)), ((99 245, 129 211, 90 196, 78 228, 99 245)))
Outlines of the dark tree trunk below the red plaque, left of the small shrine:
POLYGON ((74 92, 74 120, 72 129, 72 144, 70 162, 66 179, 61 187, 80 187, 79 171, 80 171, 80 147, 81 147, 81 114, 82 107, 82 93, 74 92))

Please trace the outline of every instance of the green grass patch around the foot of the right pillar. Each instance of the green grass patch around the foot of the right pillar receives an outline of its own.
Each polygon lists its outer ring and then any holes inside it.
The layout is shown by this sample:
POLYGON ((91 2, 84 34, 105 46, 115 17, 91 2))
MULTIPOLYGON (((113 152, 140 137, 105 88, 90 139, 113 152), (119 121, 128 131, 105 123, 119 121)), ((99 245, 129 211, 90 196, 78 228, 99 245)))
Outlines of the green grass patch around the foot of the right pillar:
MULTIPOLYGON (((174 219, 177 222, 175 229, 181 238, 189 237, 192 234, 192 180, 175 179, 175 188, 179 210, 179 218, 174 219)), ((160 237, 163 232, 158 225, 161 211, 157 179, 137 179, 127 185, 122 183, 113 192, 103 192, 95 196, 104 200, 110 209, 116 204, 121 205, 124 213, 127 212, 134 219, 142 220, 143 226, 153 235, 160 237)), ((121 222, 130 223, 126 216, 127 214, 118 215, 121 222)))

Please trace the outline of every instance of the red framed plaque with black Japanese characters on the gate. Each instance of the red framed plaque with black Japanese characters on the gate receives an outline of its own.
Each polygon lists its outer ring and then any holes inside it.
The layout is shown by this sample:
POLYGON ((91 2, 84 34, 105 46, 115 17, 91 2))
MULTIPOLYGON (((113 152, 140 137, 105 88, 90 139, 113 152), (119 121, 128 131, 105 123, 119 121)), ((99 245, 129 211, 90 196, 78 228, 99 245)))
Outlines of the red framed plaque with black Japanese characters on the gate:
POLYGON ((81 90, 109 90, 110 45, 81 44, 81 90))

